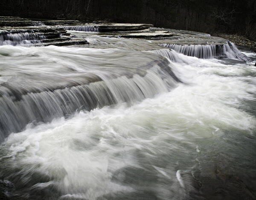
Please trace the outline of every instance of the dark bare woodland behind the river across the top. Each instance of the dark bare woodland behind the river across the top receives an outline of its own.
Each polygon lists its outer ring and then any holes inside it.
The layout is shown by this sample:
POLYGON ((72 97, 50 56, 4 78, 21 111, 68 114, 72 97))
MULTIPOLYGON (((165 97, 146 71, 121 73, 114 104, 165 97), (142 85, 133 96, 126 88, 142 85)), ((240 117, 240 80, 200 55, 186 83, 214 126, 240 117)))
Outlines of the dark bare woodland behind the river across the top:
POLYGON ((256 39, 256 0, 0 0, 0 15, 151 23, 256 39))

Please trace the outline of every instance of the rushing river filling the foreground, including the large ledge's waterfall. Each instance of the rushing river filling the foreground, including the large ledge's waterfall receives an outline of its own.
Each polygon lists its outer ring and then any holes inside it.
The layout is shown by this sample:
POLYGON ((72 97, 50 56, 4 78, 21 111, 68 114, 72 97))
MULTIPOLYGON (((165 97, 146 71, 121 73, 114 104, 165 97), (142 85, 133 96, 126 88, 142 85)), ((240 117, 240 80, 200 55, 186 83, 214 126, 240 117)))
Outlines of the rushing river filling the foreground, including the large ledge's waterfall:
POLYGON ((0 192, 256 198, 256 54, 199 59, 87 39, 98 48, 0 46, 0 192))

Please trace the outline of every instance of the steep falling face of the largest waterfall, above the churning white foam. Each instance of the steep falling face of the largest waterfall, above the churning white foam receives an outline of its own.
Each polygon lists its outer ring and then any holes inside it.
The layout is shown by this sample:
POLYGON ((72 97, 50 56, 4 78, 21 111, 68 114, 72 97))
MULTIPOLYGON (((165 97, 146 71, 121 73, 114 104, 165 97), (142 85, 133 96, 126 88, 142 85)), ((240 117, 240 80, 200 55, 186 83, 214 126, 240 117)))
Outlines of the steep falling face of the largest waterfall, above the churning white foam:
MULTIPOLYGON (((164 64, 168 67, 168 63, 164 64)), ((0 130, 3 130, 0 141, 9 132, 18 132, 32 121, 47 122, 53 118, 70 115, 76 110, 92 110, 117 102, 140 101, 157 93, 167 92, 175 82, 173 74, 160 77, 157 73, 164 71, 155 66, 148 70, 145 76, 136 74, 131 79, 121 76, 105 82, 52 91, 41 90, 38 93, 26 91, 24 94, 18 94, 17 91, 7 88, 8 86, 1 88, 0 92, 4 95, 0 97, 0 130)))

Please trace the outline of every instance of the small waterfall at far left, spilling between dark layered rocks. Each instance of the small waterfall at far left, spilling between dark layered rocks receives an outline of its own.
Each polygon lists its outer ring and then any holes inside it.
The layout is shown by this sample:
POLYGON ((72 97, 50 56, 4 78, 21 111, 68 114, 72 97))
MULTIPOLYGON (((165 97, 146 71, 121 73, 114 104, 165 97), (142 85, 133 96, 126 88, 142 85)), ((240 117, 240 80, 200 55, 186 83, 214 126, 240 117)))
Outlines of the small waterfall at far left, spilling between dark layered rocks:
POLYGON ((2 31, 0 32, 0 45, 24 45, 40 43, 41 39, 46 39, 43 33, 33 31, 2 31))

